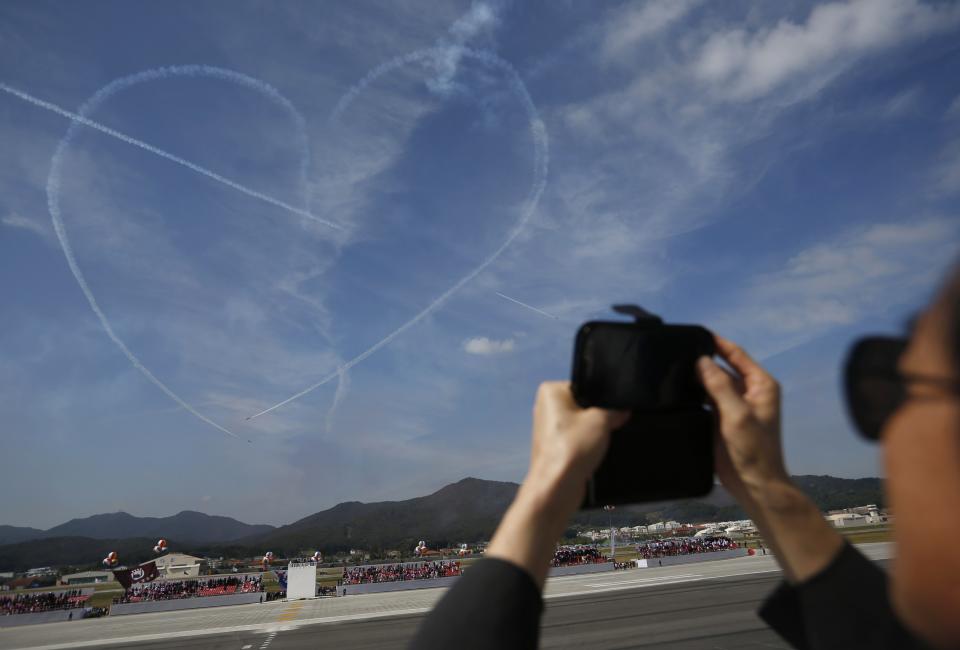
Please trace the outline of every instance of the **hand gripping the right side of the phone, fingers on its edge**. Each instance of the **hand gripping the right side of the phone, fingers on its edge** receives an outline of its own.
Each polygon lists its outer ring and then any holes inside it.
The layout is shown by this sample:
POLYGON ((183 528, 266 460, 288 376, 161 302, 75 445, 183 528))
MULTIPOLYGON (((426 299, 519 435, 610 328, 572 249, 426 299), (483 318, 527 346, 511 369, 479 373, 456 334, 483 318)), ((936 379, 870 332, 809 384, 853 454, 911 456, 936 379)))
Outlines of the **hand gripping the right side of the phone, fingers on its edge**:
POLYGON ((780 442, 780 386, 738 345, 716 334, 714 339, 718 354, 734 370, 728 372, 709 357, 697 362, 719 416, 717 476, 749 506, 766 487, 790 480, 780 442))

